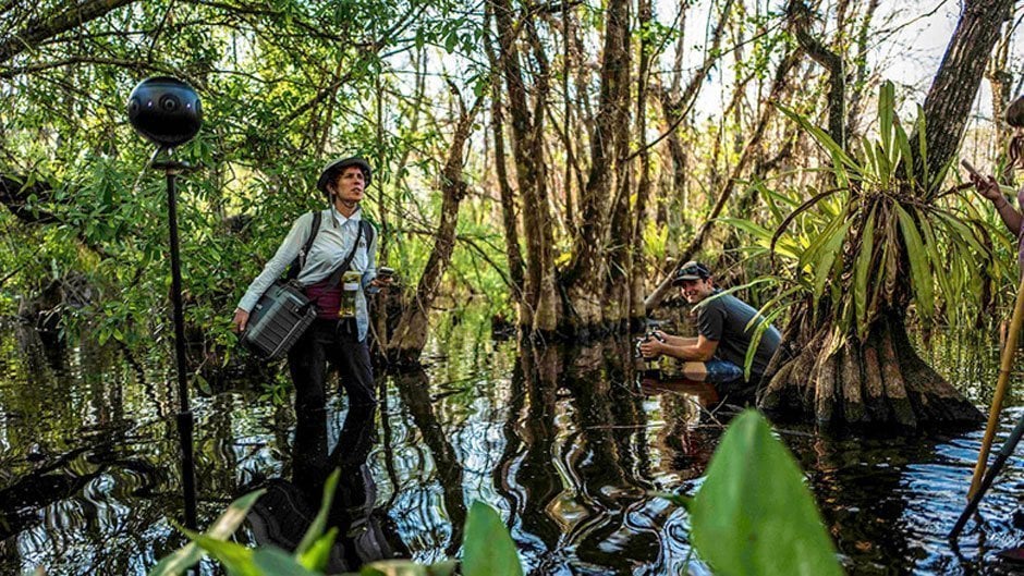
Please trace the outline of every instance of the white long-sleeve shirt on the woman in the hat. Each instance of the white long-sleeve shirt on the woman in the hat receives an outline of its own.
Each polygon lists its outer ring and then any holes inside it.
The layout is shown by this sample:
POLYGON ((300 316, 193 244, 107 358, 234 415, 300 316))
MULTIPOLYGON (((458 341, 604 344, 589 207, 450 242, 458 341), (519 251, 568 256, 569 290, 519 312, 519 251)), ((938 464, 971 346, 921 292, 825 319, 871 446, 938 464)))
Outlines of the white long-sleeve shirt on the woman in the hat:
MULTIPOLYGON (((326 279, 344 261, 352 249, 352 243, 355 242, 358 235, 361 215, 362 210, 356 210, 352 216, 345 218, 334 210, 333 206, 320 211, 319 233, 317 233, 316 240, 313 241, 309 254, 306 255, 306 264, 296 279, 301 285, 308 286, 326 279)), ((245 291, 245 295, 239 302, 239 308, 251 311, 256 306, 256 302, 263 296, 264 292, 284 273, 292 260, 298 256, 298 250, 309 238, 312 224, 313 212, 302 215, 292 223, 292 229, 284 236, 278 252, 267 261, 263 272, 253 280, 248 290, 245 291)), ((369 314, 366 307, 365 292, 367 292, 367 289, 369 289, 369 292, 376 292, 369 286, 369 283, 377 278, 377 236, 378 234, 375 233, 373 242, 368 246, 365 235, 359 237, 359 246, 349 265, 350 270, 362 272, 362 282, 355 295, 355 323, 359 331, 361 341, 366 338, 366 332, 369 329, 369 314)))

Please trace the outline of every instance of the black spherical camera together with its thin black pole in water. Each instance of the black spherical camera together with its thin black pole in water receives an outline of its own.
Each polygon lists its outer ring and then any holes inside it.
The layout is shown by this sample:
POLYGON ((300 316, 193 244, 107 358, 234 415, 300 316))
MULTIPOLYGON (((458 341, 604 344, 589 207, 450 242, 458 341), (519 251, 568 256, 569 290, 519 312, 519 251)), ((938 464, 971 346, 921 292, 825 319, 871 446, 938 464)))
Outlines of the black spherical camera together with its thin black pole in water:
POLYGON ((158 148, 149 166, 167 176, 167 211, 171 242, 171 299, 174 305, 174 353, 178 365, 178 436, 182 452, 182 489, 185 526, 197 529, 194 418, 188 403, 185 359, 185 318, 181 297, 181 257, 178 242, 178 175, 188 164, 172 158, 175 146, 191 140, 199 131, 203 112, 199 97, 188 84, 169 76, 146 78, 129 96, 129 120, 135 130, 158 148), (158 157, 163 154, 159 161, 158 157))

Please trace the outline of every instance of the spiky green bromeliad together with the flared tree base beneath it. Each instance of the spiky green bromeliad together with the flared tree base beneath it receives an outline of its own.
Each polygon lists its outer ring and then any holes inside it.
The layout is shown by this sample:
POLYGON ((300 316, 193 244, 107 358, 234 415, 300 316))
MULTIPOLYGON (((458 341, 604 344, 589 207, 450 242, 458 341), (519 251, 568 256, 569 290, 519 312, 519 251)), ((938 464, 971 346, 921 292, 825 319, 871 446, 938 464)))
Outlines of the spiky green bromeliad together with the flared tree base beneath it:
POLYGON ((851 150, 780 109, 829 162, 817 170, 821 189, 803 204, 755 184, 781 219, 776 230, 730 220, 757 237, 763 252, 789 260, 785 273, 763 279, 779 285, 766 314, 793 312, 784 338, 790 356, 778 364, 760 405, 813 415, 819 424, 914 428, 977 420, 977 409, 918 357, 906 335, 911 310, 928 327, 977 309, 985 275, 978 269, 998 266, 971 201, 949 206, 951 193, 941 189, 949 163, 927 171, 922 109, 909 135, 886 83, 878 139, 863 138, 851 150))

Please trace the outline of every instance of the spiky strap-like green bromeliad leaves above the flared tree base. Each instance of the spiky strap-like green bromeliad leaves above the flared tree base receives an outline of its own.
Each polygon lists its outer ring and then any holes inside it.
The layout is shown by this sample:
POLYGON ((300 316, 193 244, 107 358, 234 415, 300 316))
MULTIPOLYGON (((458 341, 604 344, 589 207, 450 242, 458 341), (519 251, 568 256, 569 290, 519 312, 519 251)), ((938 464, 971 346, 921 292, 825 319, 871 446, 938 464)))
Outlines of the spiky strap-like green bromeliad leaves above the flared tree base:
POLYGON ((818 320, 827 319, 840 334, 837 346, 845 334, 863 341, 879 314, 912 304, 925 324, 967 321, 966 314, 980 306, 978 265, 993 266, 988 231, 970 201, 941 192, 948 167, 924 172, 921 109, 909 136, 894 88, 886 83, 878 98, 878 139, 863 138, 844 150, 807 118, 779 108, 813 136, 829 162, 812 169, 817 188, 751 184, 767 201, 768 226, 727 219, 755 238, 752 256, 789 261, 766 277, 779 289, 770 305, 808 302, 818 320), (802 200, 805 195, 810 199, 802 200))

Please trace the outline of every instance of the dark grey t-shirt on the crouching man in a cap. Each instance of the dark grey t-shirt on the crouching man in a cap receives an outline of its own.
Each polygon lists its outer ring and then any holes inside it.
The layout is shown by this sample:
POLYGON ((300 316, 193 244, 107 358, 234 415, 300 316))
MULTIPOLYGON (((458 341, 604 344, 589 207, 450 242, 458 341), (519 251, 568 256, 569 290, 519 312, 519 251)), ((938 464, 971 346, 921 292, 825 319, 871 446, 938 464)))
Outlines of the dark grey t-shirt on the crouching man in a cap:
MULTIPOLYGON (((718 294, 719 290, 715 291, 718 294)), ((741 301, 732 294, 718 296, 702 302, 697 305, 697 331, 708 340, 718 342, 718 348, 715 351, 715 357, 721 360, 728 360, 743 368, 746 360, 746 350, 751 345, 754 331, 764 318, 757 314, 749 304, 741 301), (751 320, 757 317, 758 322, 754 322, 747 329, 751 320)), ((782 336, 773 326, 769 326, 761 334, 760 342, 757 345, 757 352, 754 354, 754 364, 751 366, 751 378, 756 379, 765 373, 771 356, 782 336)))

